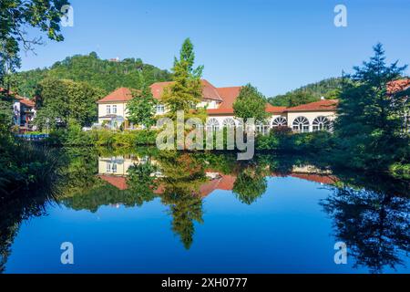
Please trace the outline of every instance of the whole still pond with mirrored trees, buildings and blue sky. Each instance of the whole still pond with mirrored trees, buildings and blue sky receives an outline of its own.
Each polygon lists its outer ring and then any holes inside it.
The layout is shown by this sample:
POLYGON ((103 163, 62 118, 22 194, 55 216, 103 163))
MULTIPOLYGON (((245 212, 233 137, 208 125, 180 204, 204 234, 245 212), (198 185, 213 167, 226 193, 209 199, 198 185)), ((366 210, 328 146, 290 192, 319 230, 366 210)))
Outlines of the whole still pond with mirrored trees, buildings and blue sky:
POLYGON ((61 155, 56 185, 1 205, 4 273, 409 272, 408 182, 270 154, 61 155))

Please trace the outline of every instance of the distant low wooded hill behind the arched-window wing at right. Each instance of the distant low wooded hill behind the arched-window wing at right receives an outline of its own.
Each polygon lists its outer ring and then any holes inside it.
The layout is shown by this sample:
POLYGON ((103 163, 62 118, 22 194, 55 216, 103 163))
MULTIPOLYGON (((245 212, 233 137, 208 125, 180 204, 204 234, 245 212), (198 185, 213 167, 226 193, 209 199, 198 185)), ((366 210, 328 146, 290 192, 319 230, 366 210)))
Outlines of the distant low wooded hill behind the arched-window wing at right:
POLYGON ((295 107, 303 103, 317 101, 321 97, 336 99, 340 89, 342 89, 342 78, 328 78, 272 97, 269 102, 274 106, 295 107))

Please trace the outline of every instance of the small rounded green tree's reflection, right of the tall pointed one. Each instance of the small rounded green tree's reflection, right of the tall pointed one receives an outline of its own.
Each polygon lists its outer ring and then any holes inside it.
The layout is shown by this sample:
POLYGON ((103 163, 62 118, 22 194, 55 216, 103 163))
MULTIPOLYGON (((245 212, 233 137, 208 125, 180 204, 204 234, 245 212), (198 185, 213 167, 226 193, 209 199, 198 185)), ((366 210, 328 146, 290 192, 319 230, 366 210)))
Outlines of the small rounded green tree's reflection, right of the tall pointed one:
POLYGON ((261 168, 249 166, 239 173, 232 192, 241 203, 251 204, 266 192, 266 187, 266 177, 261 168))

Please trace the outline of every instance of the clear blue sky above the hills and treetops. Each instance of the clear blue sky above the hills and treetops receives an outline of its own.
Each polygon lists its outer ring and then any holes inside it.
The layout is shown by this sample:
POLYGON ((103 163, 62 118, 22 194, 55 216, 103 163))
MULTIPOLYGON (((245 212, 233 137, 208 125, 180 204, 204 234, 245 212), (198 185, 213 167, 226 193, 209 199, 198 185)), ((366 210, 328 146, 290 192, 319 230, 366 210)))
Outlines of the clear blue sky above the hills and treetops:
MULTIPOLYGON (((74 27, 47 41, 23 68, 43 68, 75 54, 140 57, 171 68, 183 39, 195 45, 204 78, 215 86, 251 82, 266 96, 351 71, 384 44, 389 61, 410 63, 409 0, 71 0, 74 27), (333 8, 347 7, 347 27, 333 8)), ((33 33, 33 32, 30 32, 33 33)), ((407 74, 409 74, 407 70, 407 74)))

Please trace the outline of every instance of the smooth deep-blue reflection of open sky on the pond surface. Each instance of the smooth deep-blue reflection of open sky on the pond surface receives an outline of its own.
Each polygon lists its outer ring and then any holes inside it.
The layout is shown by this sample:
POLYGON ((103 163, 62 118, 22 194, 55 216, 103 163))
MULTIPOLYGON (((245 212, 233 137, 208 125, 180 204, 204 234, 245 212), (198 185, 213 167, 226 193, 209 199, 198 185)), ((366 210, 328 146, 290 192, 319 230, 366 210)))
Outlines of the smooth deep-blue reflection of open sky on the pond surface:
POLYGON ((272 177, 248 205, 216 189, 203 199, 203 224, 195 222, 189 250, 159 198, 141 207, 104 205, 94 214, 53 206, 48 216, 22 224, 6 272, 367 273, 352 267, 352 257, 347 265, 333 262, 333 219, 319 204, 332 193, 320 183, 272 177), (60 264, 66 241, 74 244, 74 266, 60 264))

